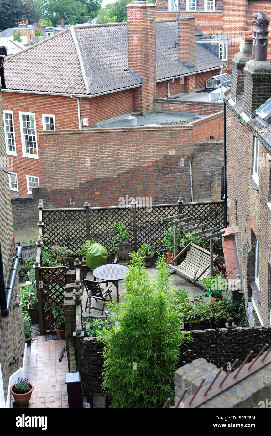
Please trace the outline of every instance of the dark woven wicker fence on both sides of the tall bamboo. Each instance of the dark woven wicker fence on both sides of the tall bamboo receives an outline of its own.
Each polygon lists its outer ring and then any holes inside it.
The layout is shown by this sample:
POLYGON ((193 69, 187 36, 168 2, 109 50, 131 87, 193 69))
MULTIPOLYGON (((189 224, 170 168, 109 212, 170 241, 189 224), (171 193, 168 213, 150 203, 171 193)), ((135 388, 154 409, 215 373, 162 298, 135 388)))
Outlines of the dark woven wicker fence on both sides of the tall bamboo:
MULTIPOLYGON (((254 353, 249 360, 252 360, 264 344, 271 344, 271 327, 194 330, 190 334, 193 341, 186 341, 180 347, 176 369, 200 357, 219 368, 226 369, 227 363, 232 364, 238 358, 241 364, 251 350, 254 353)), ((95 338, 84 337, 80 341, 80 346, 84 392, 92 407, 93 394, 102 393, 103 344, 95 338)), ((109 398, 106 399, 106 404, 108 406, 109 398)))

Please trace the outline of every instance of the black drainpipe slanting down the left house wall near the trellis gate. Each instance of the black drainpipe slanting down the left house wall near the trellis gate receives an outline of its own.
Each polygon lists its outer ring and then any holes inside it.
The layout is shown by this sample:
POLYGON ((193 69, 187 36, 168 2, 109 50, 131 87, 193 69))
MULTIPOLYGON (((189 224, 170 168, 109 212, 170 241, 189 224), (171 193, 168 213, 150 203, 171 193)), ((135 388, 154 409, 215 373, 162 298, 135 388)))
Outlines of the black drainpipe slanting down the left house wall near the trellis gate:
MULTIPOLYGON (((18 244, 20 244, 20 242, 18 242, 18 244)), ((2 260, 1 246, 0 246, 0 306, 1 306, 1 315, 3 318, 7 318, 10 314, 11 298, 13 294, 15 279, 17 277, 17 268, 21 258, 22 247, 20 245, 16 245, 16 250, 17 252, 13 257, 14 262, 12 268, 10 268, 11 269, 10 282, 8 287, 5 288, 3 260, 2 260), (6 296, 6 289, 7 289, 7 296, 6 296)))

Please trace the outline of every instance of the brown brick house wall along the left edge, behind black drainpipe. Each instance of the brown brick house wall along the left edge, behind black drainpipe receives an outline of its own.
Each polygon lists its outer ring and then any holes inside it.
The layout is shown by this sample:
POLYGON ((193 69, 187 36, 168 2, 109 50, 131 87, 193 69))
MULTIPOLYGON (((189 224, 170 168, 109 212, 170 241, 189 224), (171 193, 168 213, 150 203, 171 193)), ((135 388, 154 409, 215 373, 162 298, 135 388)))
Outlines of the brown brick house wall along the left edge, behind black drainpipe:
MULTIPOLYGON (((3 134, 3 113, 0 94, 0 167, 7 170, 6 147, 3 134)), ((12 267, 12 256, 15 251, 14 229, 10 204, 8 175, 0 171, 0 243, 3 259, 3 270, 5 286, 8 286, 10 268, 12 267)), ((15 280, 14 296, 19 293, 19 279, 15 280)), ((10 315, 3 318, 0 314, 0 362, 2 369, 3 388, 7 395, 8 379, 23 363, 20 358, 13 365, 10 365, 12 356, 24 348, 24 328, 21 308, 13 307, 13 300, 10 307, 10 315)))

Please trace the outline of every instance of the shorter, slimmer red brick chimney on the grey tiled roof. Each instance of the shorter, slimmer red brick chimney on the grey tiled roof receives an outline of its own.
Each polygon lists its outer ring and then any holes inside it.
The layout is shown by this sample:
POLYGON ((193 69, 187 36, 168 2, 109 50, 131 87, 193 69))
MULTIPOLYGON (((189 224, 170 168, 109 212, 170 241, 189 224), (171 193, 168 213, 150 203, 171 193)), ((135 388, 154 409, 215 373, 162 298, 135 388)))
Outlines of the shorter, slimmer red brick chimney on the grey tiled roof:
POLYGON ((182 15, 178 17, 179 62, 188 69, 196 65, 195 17, 182 15))

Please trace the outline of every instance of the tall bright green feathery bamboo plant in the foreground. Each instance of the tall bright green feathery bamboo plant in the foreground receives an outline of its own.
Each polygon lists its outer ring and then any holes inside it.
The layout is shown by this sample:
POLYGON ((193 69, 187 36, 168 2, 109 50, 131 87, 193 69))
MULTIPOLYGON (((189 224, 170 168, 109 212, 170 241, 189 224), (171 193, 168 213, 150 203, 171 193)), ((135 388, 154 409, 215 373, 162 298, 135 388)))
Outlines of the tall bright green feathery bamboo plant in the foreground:
POLYGON ((150 281, 143 259, 137 253, 132 258, 125 301, 118 308, 108 304, 113 315, 102 332, 102 388, 111 396, 112 407, 159 408, 167 397, 173 398, 173 373, 188 336, 180 329, 165 259, 159 258, 157 276, 150 281))

